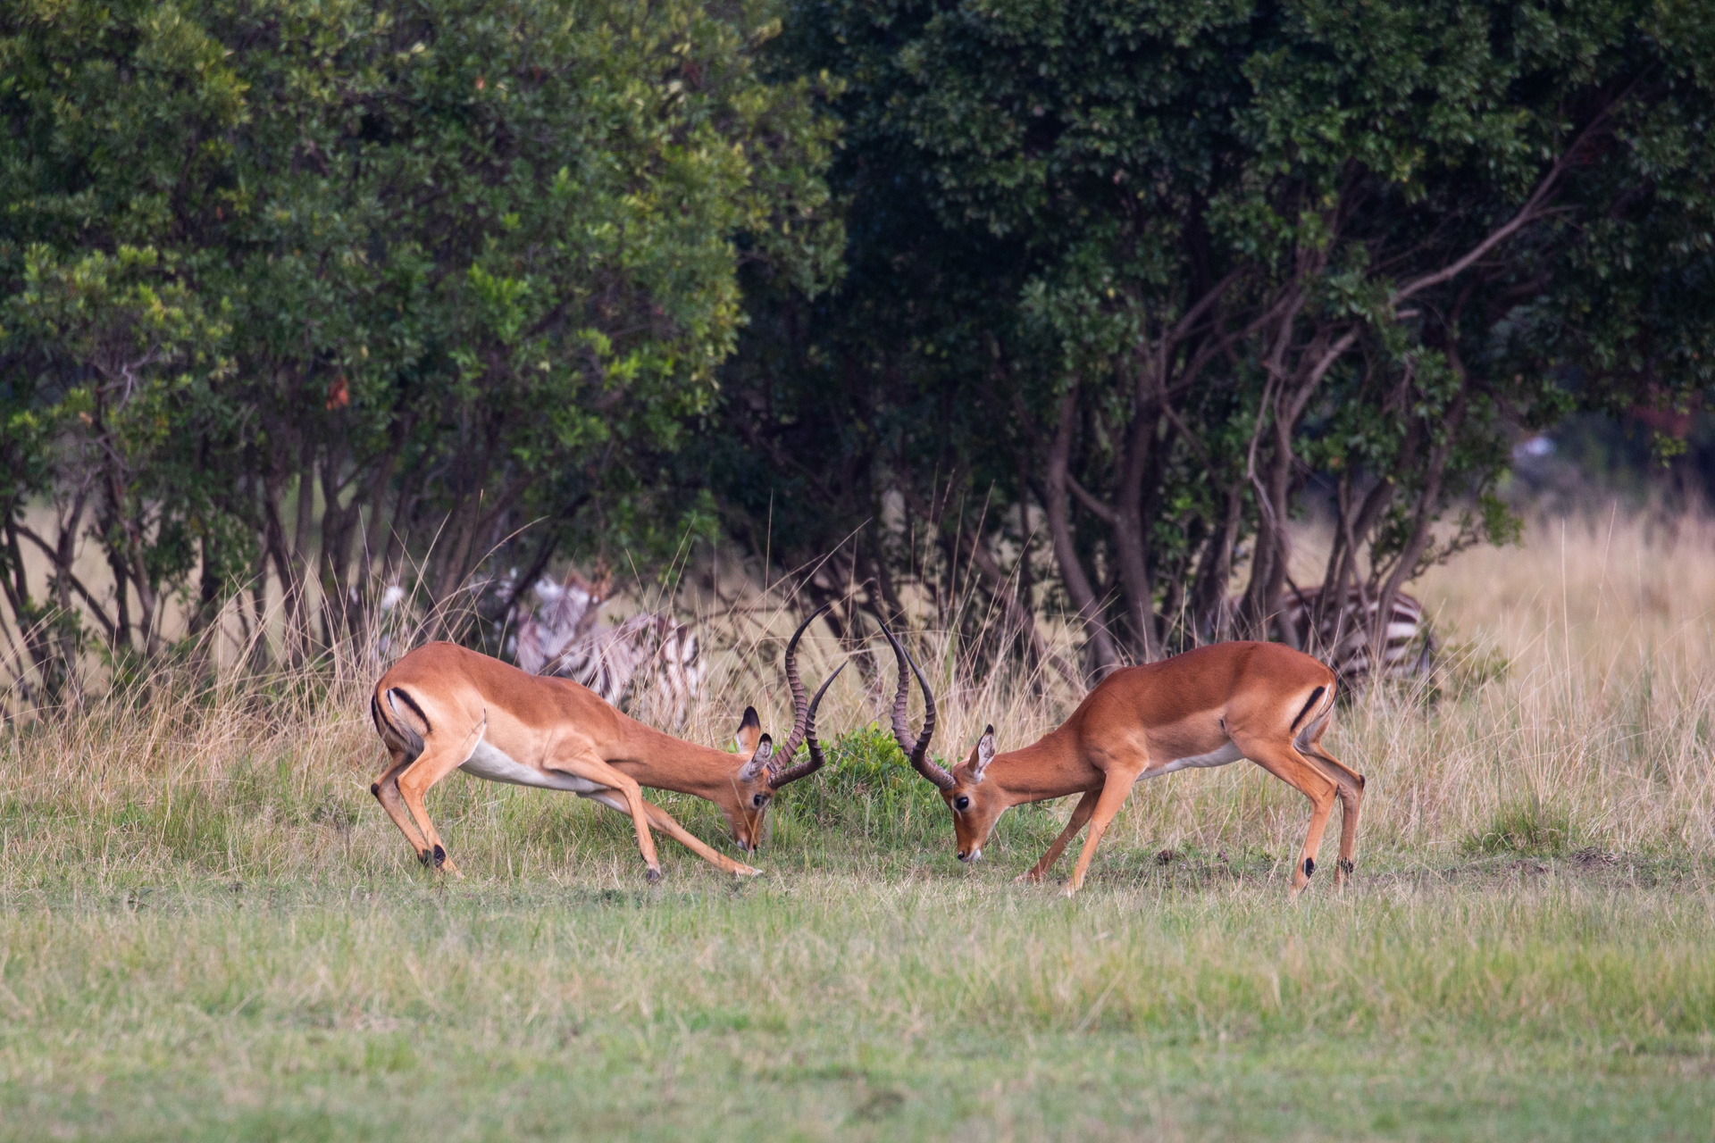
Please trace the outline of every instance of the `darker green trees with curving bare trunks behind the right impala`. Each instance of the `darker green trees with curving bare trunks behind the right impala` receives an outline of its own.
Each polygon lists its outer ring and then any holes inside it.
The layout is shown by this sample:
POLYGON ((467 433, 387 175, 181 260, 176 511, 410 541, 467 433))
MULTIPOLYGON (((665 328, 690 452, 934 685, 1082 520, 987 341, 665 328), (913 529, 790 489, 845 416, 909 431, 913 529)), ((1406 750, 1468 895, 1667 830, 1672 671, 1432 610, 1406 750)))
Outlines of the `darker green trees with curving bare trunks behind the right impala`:
POLYGON ((1026 615, 1039 554, 1101 667, 1261 629, 1312 476, 1331 584, 1506 535, 1521 430, 1710 380, 1694 9, 794 5, 851 243, 821 303, 756 276, 732 367, 777 550, 871 519, 830 588, 897 607, 926 536, 1026 615))

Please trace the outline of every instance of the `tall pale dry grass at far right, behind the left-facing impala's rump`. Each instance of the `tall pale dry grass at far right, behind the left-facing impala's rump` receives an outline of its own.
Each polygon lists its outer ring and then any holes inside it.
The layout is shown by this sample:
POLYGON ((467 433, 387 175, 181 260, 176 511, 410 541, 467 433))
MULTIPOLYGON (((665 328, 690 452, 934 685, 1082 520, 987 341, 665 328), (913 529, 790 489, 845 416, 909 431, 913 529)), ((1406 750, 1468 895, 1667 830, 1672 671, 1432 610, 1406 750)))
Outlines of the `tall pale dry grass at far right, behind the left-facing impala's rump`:
POLYGON ((1614 511, 1427 576, 1449 699, 1346 720, 1348 752, 1379 763, 1372 845, 1715 850, 1712 557, 1708 519, 1614 511))

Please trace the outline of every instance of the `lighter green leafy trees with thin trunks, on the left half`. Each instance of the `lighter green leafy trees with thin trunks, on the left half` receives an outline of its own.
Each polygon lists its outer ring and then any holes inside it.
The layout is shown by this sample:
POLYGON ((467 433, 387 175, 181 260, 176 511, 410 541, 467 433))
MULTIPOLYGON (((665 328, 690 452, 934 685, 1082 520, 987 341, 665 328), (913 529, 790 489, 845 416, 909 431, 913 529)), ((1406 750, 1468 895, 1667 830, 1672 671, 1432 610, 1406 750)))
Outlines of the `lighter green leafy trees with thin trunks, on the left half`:
POLYGON ((377 584, 441 600, 496 548, 707 533, 652 473, 715 399, 739 264, 813 291, 840 254, 828 125, 753 65, 775 27, 689 2, 7 7, 0 567, 45 679, 74 601, 153 651, 168 593, 208 622, 273 577, 331 639, 377 584), (120 589, 77 576, 84 533, 120 589))

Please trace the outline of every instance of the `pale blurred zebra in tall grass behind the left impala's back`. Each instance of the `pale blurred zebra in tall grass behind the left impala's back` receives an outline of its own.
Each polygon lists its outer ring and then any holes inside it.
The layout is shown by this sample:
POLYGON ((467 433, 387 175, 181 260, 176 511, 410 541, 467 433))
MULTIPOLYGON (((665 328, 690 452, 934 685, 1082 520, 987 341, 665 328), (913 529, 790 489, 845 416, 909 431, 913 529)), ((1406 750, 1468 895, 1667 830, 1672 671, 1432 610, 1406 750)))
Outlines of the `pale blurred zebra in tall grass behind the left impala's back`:
POLYGON ((640 612, 612 627, 597 625, 609 600, 609 577, 595 583, 576 572, 564 584, 535 584, 542 608, 518 624, 513 656, 533 675, 559 675, 583 684, 605 703, 636 701, 643 682, 653 682, 652 704, 681 725, 703 694, 708 665, 703 648, 684 624, 664 612, 640 612))

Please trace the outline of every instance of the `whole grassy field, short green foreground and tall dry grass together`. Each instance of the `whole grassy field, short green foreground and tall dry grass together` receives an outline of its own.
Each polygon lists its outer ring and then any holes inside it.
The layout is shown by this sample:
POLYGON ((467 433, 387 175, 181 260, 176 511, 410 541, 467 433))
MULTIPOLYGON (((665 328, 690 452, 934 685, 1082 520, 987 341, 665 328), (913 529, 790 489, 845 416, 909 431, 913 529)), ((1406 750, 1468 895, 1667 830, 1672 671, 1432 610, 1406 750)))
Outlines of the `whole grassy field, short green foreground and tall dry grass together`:
MULTIPOLYGON (((1067 804, 960 867, 845 680, 746 884, 463 776, 434 879, 364 672, 9 730, 0 1138, 1708 1140, 1715 526, 1542 526, 1422 595, 1441 701, 1341 713, 1358 876, 1297 905, 1307 807, 1243 764, 1139 787, 1077 898, 1012 884, 1067 804)), ((926 649, 948 754, 1075 697, 926 649)), ((691 737, 779 723, 741 667, 691 737)))

